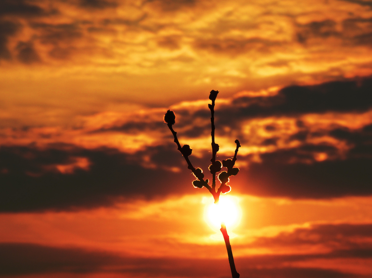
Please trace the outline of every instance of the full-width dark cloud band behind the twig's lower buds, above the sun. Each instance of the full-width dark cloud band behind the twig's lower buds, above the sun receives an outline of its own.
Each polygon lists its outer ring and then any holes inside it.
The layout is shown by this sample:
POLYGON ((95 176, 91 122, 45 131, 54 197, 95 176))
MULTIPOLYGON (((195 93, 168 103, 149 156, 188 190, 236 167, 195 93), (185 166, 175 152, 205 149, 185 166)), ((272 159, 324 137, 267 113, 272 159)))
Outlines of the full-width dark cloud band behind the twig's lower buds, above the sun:
MULTIPOLYGON (((238 162, 247 161, 249 167, 231 179, 233 191, 295 198, 372 194, 370 158, 317 162, 312 152, 263 153, 261 162, 238 156, 238 162)), ((208 173, 208 155, 191 159, 208 173)), ((172 145, 131 155, 74 146, 2 147, 0 161, 1 211, 90 208, 112 205, 119 197, 154 198, 195 191, 194 178, 172 145)))

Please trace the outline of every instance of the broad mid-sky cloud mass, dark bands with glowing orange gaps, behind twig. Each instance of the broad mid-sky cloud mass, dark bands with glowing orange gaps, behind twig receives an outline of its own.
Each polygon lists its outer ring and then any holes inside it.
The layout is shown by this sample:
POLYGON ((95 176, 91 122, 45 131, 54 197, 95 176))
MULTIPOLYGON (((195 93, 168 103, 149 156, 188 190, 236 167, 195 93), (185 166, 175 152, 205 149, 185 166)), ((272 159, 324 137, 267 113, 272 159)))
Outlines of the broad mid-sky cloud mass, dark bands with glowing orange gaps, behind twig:
MULTIPOLYGON (((366 79, 221 98, 215 114, 218 158, 234 155, 235 139, 242 145, 233 190, 295 198, 372 194, 370 89, 366 79)), ((181 144, 191 146, 192 163, 205 173, 211 140, 207 103, 170 107, 181 144)), ((0 179, 7 186, 1 210, 94 207, 117 197, 192 190, 193 176, 163 123, 166 110, 99 113, 67 128, 2 129, 0 179)))

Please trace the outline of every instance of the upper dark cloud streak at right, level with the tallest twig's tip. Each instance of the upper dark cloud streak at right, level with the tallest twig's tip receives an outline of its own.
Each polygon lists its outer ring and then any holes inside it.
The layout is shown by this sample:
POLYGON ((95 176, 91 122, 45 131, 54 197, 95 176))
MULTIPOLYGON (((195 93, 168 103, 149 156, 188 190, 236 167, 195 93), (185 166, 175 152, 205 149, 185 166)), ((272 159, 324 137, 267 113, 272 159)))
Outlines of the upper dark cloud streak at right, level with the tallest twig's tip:
POLYGON ((241 106, 242 116, 291 115, 326 111, 366 111, 372 106, 368 93, 371 79, 337 81, 314 86, 283 88, 272 97, 239 97, 234 103, 241 106))

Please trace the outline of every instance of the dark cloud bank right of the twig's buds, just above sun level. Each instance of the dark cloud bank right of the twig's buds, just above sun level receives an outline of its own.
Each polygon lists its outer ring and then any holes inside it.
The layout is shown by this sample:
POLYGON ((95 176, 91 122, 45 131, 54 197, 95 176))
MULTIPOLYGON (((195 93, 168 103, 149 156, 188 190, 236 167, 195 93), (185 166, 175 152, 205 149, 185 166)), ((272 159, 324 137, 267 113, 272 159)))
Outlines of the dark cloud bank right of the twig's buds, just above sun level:
MULTIPOLYGON (((248 171, 236 177, 243 192, 296 198, 330 198, 372 194, 370 159, 347 159, 307 163, 285 163, 293 152, 261 155, 262 162, 251 163, 248 171)), ((241 171, 242 172, 242 171, 241 171)))

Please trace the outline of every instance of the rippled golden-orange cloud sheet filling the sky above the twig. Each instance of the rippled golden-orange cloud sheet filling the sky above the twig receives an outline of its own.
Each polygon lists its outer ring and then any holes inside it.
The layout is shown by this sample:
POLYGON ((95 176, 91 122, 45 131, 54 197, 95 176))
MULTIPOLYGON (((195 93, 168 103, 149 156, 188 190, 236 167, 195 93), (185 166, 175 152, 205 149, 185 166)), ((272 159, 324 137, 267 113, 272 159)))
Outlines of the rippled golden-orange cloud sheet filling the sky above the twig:
POLYGON ((39 113, 46 103, 62 114, 104 111, 113 100, 164 106, 211 85, 232 94, 372 74, 363 1, 1 5, 1 100, 10 110, 19 98, 39 113))

